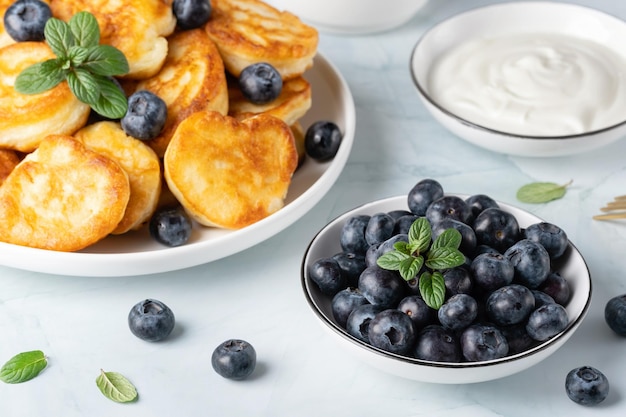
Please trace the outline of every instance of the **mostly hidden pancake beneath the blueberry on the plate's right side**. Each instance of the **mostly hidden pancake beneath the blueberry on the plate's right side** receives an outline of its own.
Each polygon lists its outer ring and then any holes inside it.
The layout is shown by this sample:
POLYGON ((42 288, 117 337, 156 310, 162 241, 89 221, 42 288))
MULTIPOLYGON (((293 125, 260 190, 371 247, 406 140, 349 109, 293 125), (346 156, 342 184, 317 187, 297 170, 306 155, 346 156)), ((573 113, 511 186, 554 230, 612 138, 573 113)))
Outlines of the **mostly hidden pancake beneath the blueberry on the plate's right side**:
POLYGON ((280 95, 267 104, 254 104, 246 99, 237 80, 229 77, 228 96, 228 114, 239 120, 266 113, 292 125, 311 108, 311 85, 302 77, 286 80, 280 95))

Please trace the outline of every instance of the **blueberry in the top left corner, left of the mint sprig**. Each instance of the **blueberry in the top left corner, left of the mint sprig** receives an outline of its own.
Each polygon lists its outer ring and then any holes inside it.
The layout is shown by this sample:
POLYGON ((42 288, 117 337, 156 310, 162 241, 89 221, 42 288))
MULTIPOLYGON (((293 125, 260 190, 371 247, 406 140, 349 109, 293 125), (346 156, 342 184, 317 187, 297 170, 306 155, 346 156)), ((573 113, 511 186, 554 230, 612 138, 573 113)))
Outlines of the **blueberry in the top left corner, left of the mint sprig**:
POLYGON ((18 0, 4 13, 4 29, 17 42, 43 41, 50 6, 39 0, 18 0))

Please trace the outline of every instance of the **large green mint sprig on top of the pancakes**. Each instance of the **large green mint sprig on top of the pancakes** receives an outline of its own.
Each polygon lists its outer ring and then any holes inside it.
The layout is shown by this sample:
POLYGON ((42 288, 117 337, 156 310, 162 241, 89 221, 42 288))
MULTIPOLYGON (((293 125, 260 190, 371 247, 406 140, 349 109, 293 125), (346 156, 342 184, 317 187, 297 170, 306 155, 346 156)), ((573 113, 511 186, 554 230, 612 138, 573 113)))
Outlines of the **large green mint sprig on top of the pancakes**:
POLYGON ((52 17, 44 35, 57 57, 24 69, 15 80, 15 89, 39 94, 67 81, 76 98, 95 112, 110 119, 122 118, 128 102, 111 77, 128 73, 128 61, 119 49, 99 44, 96 18, 89 12, 76 13, 67 23, 52 17))

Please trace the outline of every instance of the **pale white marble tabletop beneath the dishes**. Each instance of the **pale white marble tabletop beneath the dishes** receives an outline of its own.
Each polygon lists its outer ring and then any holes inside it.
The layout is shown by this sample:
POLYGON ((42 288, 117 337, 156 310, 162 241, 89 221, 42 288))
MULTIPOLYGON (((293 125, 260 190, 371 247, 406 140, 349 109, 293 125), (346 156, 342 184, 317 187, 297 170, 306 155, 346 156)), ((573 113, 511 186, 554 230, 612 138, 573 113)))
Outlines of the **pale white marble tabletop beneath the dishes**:
MULTIPOLYGON (((626 19, 626 2, 578 0, 626 19)), ((306 218, 229 258, 164 274, 124 278, 53 276, 0 267, 0 362, 41 349, 49 365, 36 379, 0 384, 2 416, 622 416, 626 409, 626 339, 603 319, 606 301, 626 293, 626 221, 591 219, 626 194, 626 141, 567 158, 497 155, 452 136, 419 103, 409 56, 432 24, 488 0, 431 0, 419 16, 372 36, 321 36, 320 50, 347 79, 357 107, 357 137, 331 191, 306 218), (431 177, 449 192, 485 193, 563 227, 593 277, 591 309, 554 356, 505 379, 472 385, 407 381, 350 357, 327 337, 300 288, 300 262, 312 236, 363 202, 400 195, 431 177), (567 195, 523 205, 530 181, 567 182, 567 195), (128 330, 131 306, 164 301, 177 327, 163 343, 128 330), (258 354, 254 377, 222 379, 210 365, 220 342, 242 338, 258 354), (594 408, 570 401, 567 372, 603 370, 607 400, 594 408), (126 375, 139 400, 117 404, 95 385, 100 369, 126 375)), ((33 259, 33 262, 37 262, 33 259)))

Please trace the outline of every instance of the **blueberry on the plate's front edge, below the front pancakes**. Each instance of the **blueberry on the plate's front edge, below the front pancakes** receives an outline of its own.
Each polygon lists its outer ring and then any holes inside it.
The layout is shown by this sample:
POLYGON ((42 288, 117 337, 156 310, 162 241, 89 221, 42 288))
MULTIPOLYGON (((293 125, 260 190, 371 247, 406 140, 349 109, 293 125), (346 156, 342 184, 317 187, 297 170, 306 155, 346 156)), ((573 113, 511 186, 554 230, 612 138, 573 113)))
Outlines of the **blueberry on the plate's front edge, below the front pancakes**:
POLYGON ((161 208, 148 223, 150 236, 157 242, 174 247, 184 245, 191 238, 193 223, 181 207, 161 208))

